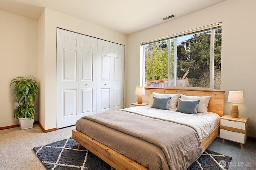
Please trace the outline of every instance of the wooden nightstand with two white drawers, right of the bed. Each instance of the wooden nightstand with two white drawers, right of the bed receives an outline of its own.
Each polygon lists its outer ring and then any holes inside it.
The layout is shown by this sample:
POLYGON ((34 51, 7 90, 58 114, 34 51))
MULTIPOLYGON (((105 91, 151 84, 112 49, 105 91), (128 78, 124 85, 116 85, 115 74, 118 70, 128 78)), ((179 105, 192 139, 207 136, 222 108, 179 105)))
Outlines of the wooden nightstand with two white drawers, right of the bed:
POLYGON ((244 149, 243 144, 247 139, 247 121, 248 117, 231 117, 224 115, 220 117, 220 138, 222 143, 225 139, 240 143, 241 149, 244 149))

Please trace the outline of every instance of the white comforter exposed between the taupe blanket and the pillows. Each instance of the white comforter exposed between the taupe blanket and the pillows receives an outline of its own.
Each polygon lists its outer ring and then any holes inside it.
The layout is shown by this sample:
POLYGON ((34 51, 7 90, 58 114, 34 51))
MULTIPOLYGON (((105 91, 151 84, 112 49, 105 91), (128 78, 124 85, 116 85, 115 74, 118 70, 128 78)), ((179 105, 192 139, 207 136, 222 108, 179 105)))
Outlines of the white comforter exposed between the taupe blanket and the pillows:
POLYGON ((196 130, 200 140, 209 135, 209 133, 216 127, 216 125, 218 125, 220 119, 218 114, 212 112, 198 113, 197 115, 193 115, 180 113, 175 111, 176 109, 154 109, 150 107, 150 105, 128 107, 121 110, 190 126, 196 130))

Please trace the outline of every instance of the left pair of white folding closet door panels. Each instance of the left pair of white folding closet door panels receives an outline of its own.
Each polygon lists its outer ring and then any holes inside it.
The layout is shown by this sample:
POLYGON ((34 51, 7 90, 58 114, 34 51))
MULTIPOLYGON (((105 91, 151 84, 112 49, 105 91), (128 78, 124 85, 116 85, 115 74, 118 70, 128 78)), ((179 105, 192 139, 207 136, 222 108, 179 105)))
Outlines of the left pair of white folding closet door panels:
POLYGON ((57 128, 96 113, 97 39, 57 29, 57 128))

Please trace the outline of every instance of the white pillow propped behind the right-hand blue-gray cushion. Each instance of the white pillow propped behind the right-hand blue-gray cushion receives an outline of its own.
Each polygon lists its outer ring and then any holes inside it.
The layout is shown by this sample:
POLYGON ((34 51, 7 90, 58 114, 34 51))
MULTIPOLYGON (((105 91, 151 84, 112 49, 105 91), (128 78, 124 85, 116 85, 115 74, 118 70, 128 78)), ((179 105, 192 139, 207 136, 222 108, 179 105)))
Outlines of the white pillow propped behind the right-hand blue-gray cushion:
POLYGON ((200 100, 197 108, 198 113, 206 113, 208 111, 207 107, 211 96, 186 96, 180 94, 182 100, 200 100))

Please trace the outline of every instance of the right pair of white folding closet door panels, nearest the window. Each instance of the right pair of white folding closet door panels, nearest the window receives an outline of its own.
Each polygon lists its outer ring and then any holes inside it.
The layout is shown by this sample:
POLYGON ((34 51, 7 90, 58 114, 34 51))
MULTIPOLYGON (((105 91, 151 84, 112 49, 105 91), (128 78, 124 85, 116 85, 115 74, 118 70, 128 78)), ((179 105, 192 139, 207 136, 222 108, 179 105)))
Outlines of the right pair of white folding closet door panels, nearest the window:
POLYGON ((97 113, 123 108, 124 45, 98 39, 97 113))

